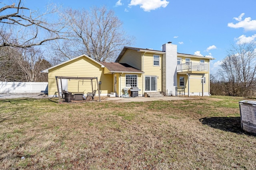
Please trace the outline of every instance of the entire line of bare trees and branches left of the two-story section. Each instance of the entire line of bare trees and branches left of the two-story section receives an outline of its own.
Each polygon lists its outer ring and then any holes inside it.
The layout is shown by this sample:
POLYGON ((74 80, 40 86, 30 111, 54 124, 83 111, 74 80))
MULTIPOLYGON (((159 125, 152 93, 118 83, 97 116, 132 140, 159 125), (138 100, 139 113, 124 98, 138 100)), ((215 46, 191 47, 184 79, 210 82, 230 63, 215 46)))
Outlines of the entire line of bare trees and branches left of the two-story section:
POLYGON ((0 81, 47 81, 41 70, 82 54, 113 61, 132 40, 106 7, 74 10, 50 5, 41 14, 22 0, 0 2, 0 81))

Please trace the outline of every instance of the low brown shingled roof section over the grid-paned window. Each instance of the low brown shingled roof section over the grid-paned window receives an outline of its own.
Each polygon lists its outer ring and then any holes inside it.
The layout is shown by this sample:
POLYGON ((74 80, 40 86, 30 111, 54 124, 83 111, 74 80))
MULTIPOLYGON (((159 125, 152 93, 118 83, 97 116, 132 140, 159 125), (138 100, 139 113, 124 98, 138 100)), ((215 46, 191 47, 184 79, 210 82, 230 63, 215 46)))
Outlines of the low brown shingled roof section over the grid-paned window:
POLYGON ((110 73, 118 73, 118 72, 124 72, 124 73, 139 73, 142 74, 144 73, 141 70, 138 70, 134 68, 133 66, 130 66, 129 64, 126 63, 104 63, 104 62, 99 62, 100 64, 106 66, 108 70, 110 70, 110 73))

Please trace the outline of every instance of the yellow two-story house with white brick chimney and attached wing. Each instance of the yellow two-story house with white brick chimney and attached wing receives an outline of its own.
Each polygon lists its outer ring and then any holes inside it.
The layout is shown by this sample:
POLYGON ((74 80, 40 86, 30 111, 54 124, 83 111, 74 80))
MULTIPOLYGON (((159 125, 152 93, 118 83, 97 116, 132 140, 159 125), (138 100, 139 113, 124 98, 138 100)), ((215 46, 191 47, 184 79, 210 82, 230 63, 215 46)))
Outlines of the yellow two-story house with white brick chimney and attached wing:
MULTIPOLYGON (((102 96, 144 96, 150 92, 164 92, 167 96, 210 95, 212 58, 177 53, 177 45, 171 42, 162 49, 124 47, 115 62, 97 62, 81 55, 43 70, 48 74, 48 96, 58 96, 56 76, 97 77, 102 96)), ((62 90, 74 93, 97 90, 95 80, 62 79, 61 84, 62 90)))

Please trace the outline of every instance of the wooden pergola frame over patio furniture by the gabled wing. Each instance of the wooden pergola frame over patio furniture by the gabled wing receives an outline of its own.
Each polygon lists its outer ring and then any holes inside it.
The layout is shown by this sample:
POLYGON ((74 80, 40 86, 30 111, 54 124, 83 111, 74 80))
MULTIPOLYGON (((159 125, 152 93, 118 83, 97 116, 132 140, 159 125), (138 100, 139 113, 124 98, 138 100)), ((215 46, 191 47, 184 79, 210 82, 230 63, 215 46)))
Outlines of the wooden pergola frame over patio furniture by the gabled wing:
MULTIPOLYGON (((65 77, 65 76, 55 76, 55 78, 56 78, 56 84, 57 84, 57 89, 58 89, 59 103, 61 103, 61 98, 60 98, 60 90, 59 90, 58 79, 60 79, 61 92, 63 91, 62 90, 62 79, 91 80, 91 84, 92 84, 92 80, 96 79, 97 90, 98 90, 98 95, 99 95, 99 102, 100 102, 100 89, 99 89, 98 77, 65 77)), ((93 91, 93 85, 92 85, 92 91, 93 91)), ((61 94, 63 95, 63 93, 61 93, 61 94)))

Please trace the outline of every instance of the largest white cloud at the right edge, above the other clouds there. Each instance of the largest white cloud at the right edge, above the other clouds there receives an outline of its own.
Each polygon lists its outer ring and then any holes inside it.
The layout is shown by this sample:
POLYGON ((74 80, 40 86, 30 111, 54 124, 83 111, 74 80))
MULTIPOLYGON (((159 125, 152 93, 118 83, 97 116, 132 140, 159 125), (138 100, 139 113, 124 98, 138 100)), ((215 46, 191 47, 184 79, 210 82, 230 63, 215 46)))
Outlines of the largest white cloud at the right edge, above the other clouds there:
POLYGON ((228 27, 231 28, 244 28, 245 31, 256 31, 256 20, 252 20, 250 17, 244 18, 242 20, 242 17, 244 16, 244 13, 240 14, 238 18, 234 17, 236 21, 239 21, 238 23, 228 23, 228 27))

